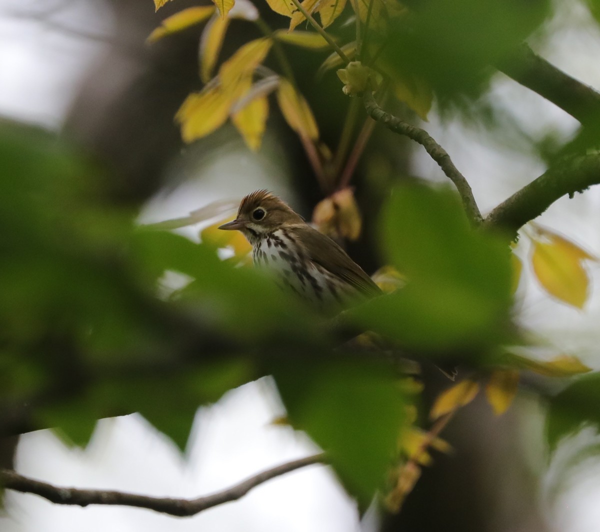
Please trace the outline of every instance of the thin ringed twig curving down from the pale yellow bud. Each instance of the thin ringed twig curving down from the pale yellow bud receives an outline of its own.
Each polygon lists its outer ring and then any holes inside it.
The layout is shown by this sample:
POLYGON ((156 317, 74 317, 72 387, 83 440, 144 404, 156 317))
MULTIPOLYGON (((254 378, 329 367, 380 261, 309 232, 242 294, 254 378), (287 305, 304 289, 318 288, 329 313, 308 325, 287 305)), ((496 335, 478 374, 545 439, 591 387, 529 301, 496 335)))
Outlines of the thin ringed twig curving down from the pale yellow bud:
POLYGON ((430 157, 439 164, 443 173, 454 183, 455 187, 463 200, 464 209, 469 219, 478 225, 482 221, 481 212, 475 198, 473 197, 473 191, 464 176, 458 171, 457 167, 454 166, 450 156, 445 149, 442 148, 425 130, 407 124, 400 118, 394 115, 386 113, 375 101, 370 91, 365 91, 362 100, 365 104, 365 109, 371 118, 377 122, 382 122, 389 130, 394 131, 400 135, 409 137, 409 139, 418 142, 425 148, 430 157))

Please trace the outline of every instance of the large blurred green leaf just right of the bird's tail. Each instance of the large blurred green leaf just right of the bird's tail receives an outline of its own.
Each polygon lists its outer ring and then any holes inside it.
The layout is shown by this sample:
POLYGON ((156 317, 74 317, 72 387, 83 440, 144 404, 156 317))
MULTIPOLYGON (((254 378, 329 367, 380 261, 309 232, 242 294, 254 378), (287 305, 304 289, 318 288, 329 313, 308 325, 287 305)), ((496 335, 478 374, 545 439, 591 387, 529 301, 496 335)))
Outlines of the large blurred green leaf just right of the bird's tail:
POLYGON ((469 226, 457 194, 401 187, 384 209, 382 250, 407 285, 351 309, 361 326, 416 350, 476 351, 502 339, 509 248, 469 226))

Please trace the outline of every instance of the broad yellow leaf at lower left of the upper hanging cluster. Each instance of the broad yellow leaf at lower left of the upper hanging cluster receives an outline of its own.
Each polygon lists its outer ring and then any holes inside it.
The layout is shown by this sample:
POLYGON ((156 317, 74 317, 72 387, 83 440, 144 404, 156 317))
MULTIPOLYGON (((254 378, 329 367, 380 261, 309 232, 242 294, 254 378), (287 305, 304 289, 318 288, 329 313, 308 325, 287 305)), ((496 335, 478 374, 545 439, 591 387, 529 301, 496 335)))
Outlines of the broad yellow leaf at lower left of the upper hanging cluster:
POLYGON ((205 137, 221 127, 238 97, 236 87, 224 89, 220 85, 188 95, 175 115, 175 120, 181 124, 184 142, 205 137))

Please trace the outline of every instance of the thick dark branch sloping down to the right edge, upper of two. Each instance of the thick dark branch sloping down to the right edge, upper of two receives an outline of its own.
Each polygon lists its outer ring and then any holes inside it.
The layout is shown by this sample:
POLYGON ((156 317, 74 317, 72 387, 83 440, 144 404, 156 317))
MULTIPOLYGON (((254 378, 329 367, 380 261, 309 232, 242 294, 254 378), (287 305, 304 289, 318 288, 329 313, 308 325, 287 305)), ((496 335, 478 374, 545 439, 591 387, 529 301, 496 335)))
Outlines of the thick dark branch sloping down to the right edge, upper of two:
POLYGON ((597 123, 600 117, 600 93, 536 55, 527 44, 521 44, 497 67, 520 85, 537 92, 569 113, 581 124, 597 123))

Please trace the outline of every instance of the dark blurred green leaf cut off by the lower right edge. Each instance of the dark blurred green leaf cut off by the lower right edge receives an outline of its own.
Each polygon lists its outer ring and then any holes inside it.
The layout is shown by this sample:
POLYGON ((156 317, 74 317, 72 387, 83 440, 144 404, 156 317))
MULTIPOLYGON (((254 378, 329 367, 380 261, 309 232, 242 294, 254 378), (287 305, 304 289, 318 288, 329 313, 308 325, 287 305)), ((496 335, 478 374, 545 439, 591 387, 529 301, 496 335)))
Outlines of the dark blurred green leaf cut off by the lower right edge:
POLYGON ((600 431, 600 373, 578 378, 550 400, 546 419, 550 451, 562 438, 586 425, 600 431))

